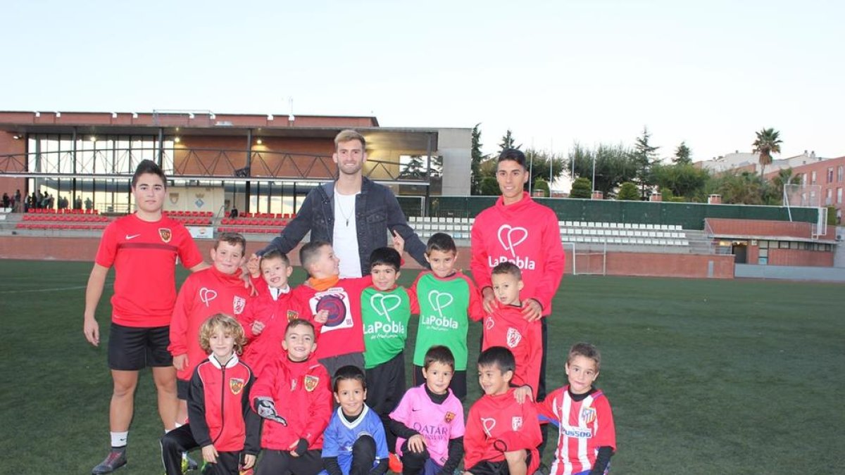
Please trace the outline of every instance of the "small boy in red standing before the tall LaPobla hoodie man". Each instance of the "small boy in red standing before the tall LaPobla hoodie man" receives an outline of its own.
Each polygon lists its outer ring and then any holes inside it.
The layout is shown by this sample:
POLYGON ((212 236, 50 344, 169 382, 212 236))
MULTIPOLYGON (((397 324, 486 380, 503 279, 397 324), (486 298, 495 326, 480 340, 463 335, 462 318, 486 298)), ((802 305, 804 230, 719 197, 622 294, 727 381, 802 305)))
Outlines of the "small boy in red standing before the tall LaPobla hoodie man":
POLYGON ((516 368, 513 385, 528 385, 537 394, 542 361, 540 322, 528 321, 522 314, 520 268, 512 262, 493 267, 493 292, 499 306, 484 318, 482 351, 506 347, 514 354, 516 368))

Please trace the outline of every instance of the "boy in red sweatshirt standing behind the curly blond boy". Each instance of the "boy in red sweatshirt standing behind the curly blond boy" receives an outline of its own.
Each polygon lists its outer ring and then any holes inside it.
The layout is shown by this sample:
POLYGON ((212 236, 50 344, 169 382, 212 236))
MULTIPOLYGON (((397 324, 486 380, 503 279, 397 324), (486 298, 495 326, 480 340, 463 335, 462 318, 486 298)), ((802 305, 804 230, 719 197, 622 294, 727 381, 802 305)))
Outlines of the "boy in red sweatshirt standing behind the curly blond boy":
POLYGON ((167 347, 177 369, 178 424, 185 423, 188 417, 188 384, 194 368, 208 358, 208 352, 199 346, 199 327, 211 315, 226 314, 237 318, 246 308, 249 290, 241 279, 246 248, 243 236, 224 232, 211 248, 212 266, 188 276, 179 289, 167 347))

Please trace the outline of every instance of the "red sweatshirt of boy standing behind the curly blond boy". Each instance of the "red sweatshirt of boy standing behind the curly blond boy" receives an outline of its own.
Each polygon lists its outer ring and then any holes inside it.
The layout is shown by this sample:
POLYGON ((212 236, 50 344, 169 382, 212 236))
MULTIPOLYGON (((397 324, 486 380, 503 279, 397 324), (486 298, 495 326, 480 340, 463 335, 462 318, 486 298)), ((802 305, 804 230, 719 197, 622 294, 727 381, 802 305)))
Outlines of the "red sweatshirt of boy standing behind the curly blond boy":
POLYGON ((177 378, 188 380, 194 368, 208 354, 199 347, 199 327, 214 314, 237 318, 246 308, 249 290, 243 287, 241 271, 226 275, 214 266, 194 272, 182 284, 170 323, 170 346, 173 356, 188 354, 188 366, 177 372, 177 378))

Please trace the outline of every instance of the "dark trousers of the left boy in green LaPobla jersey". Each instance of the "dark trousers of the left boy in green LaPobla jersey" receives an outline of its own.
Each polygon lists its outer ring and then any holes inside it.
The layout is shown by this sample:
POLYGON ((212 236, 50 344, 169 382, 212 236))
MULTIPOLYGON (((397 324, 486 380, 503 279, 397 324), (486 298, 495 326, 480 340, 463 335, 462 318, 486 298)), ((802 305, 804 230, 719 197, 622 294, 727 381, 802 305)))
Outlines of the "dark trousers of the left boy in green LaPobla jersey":
POLYGON ((405 390, 404 352, 367 369, 367 400, 373 403, 371 408, 381 418, 387 449, 391 452, 395 451, 396 436, 390 432, 390 412, 399 405, 405 390))

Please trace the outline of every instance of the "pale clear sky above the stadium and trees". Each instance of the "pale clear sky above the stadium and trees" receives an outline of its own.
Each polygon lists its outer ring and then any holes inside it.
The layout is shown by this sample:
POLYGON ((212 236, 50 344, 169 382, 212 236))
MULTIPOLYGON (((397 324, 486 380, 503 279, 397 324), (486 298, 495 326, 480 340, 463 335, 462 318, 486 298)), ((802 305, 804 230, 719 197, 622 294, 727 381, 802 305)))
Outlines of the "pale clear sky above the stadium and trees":
POLYGON ((58 2, 4 5, 0 110, 374 115, 481 123, 485 152, 845 156, 845 2, 58 2))

